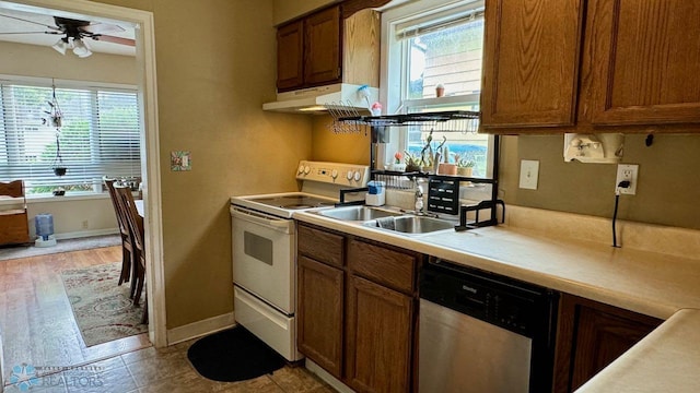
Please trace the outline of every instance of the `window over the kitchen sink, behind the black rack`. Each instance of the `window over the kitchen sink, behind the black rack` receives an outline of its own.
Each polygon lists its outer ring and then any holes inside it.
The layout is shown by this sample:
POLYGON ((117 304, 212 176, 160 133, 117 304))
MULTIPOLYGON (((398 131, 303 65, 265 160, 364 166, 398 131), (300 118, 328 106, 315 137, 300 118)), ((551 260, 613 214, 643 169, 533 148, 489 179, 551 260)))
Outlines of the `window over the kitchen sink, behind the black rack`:
MULTIPOLYGON (((386 115, 479 110, 483 7, 483 1, 419 0, 382 14, 381 92, 386 115)), ((418 127, 399 130, 386 146, 384 162, 395 152, 420 153, 429 134, 418 127)), ((492 136, 448 132, 432 139, 442 141, 443 135, 451 162, 472 162, 472 176, 491 176, 492 136)))

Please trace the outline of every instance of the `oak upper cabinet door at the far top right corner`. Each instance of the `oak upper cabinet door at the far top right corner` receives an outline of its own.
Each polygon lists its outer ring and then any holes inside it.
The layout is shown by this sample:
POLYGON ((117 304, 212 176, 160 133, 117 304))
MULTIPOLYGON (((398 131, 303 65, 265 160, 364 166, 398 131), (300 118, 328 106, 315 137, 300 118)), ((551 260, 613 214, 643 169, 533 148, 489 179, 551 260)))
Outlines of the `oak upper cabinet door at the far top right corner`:
POLYGON ((591 122, 700 122, 697 0, 588 2, 591 122))

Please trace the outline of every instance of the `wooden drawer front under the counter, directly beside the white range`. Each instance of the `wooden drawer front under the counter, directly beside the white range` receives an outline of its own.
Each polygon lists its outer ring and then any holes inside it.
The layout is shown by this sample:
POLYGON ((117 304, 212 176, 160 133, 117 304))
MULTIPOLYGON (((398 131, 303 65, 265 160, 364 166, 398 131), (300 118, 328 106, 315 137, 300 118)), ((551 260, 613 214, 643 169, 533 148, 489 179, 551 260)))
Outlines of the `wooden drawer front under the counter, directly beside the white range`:
POLYGON ((340 235, 322 229, 299 226, 298 250, 300 253, 335 266, 343 265, 343 240, 340 235))

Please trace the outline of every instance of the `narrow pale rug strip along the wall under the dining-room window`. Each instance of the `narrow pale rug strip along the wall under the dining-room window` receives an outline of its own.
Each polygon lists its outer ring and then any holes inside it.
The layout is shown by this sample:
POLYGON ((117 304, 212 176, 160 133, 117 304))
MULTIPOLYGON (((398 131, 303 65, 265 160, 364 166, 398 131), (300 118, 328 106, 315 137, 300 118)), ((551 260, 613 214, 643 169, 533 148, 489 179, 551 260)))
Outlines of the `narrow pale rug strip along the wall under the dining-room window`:
POLYGON ((90 250, 101 247, 110 247, 121 245, 121 236, 105 235, 105 236, 91 236, 79 239, 63 239, 57 240, 56 246, 51 247, 35 247, 35 246, 19 246, 11 248, 0 249, 0 261, 30 258, 37 255, 46 255, 59 252, 90 250))

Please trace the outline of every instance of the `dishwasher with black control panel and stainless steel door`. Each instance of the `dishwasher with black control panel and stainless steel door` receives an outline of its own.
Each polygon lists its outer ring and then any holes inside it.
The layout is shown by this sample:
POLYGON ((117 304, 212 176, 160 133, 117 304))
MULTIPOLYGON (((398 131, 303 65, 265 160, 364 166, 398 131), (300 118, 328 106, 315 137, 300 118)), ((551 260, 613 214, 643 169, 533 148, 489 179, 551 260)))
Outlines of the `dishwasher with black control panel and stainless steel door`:
POLYGON ((558 293, 431 258, 420 298, 419 392, 551 391, 558 293))

